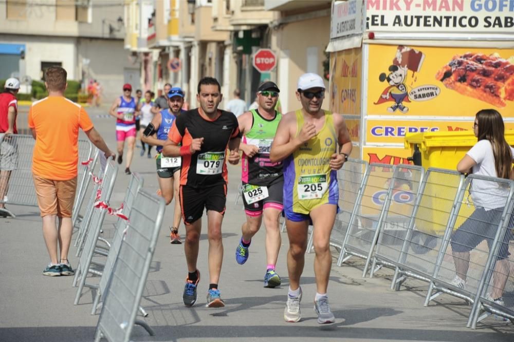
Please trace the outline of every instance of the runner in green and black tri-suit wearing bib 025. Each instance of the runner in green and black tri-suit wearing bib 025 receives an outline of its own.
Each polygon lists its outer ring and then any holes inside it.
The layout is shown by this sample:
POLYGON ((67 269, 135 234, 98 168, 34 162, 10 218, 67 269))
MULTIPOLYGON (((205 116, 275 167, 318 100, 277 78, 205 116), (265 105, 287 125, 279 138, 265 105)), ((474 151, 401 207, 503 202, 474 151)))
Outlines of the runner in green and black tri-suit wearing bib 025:
POLYGON ((282 212, 284 177, 282 162, 269 160, 269 150, 281 113, 274 108, 279 99, 279 87, 273 82, 264 82, 257 91, 259 107, 245 112, 237 118, 243 134, 240 149, 243 151, 242 175, 243 201, 246 222, 241 228, 242 237, 235 250, 237 263, 244 264, 249 256, 251 238, 262 224, 266 227, 266 274, 264 287, 274 288, 281 284, 275 272, 279 256, 280 237, 279 219, 282 212), (264 215, 263 215, 264 214, 264 215))

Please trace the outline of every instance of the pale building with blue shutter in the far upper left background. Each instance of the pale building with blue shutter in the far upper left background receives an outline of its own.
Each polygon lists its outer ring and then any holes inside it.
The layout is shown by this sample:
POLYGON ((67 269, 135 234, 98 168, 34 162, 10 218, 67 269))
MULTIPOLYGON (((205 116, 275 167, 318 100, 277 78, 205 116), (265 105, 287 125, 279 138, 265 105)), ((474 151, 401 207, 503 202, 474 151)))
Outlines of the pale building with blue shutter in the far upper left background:
POLYGON ((139 67, 124 49, 123 2, 6 0, 0 18, 0 79, 42 80, 44 69, 60 65, 83 89, 97 80, 111 101, 126 69, 139 67))

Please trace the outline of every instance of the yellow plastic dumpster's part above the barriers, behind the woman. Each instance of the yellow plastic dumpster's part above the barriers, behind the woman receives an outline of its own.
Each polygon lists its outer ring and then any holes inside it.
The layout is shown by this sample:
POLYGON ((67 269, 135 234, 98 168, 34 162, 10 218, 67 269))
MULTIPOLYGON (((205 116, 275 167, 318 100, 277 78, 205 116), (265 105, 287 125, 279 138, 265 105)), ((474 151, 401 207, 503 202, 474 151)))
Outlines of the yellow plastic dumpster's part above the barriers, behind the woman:
MULTIPOLYGON (((505 130, 505 139, 514 145, 514 129, 505 130)), ((407 134, 403 143, 412 151, 415 165, 455 170, 457 163, 476 144, 473 131, 423 132, 407 134)))

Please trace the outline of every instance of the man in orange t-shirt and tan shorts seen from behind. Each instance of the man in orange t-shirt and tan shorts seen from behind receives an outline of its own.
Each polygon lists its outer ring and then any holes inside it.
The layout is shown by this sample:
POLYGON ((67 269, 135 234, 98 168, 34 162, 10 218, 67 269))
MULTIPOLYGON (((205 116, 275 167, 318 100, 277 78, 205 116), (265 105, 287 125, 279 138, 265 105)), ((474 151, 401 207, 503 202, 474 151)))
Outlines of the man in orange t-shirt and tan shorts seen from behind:
POLYGON ((79 128, 106 158, 115 154, 93 127, 84 108, 64 98, 67 73, 52 66, 45 72, 48 97, 32 104, 29 127, 35 139, 32 176, 38 205, 43 218, 43 237, 50 263, 43 271, 47 276, 73 275, 68 261, 71 242, 71 210, 77 189, 79 161, 79 128), (56 227, 59 218, 59 229, 56 227), (60 260, 57 258, 59 242, 60 260))

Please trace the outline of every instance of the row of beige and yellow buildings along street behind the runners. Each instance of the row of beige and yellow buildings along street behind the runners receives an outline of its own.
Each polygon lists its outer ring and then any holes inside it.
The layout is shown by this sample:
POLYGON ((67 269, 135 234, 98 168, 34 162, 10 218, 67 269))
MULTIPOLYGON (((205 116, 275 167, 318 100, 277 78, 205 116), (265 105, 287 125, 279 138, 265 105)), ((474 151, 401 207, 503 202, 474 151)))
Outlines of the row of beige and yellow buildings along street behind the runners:
POLYGON ((125 12, 125 22, 141 21, 139 30, 127 27, 139 36, 125 38, 127 48, 140 55, 141 84, 154 91, 168 82, 181 86, 192 106, 198 81, 211 76, 222 85, 222 107, 235 89, 251 104, 259 83, 271 80, 281 88, 282 111, 292 110, 299 106, 298 77, 324 74, 330 0, 132 0, 129 7, 134 10, 125 12), (252 65, 260 48, 278 57, 270 72, 252 65))

